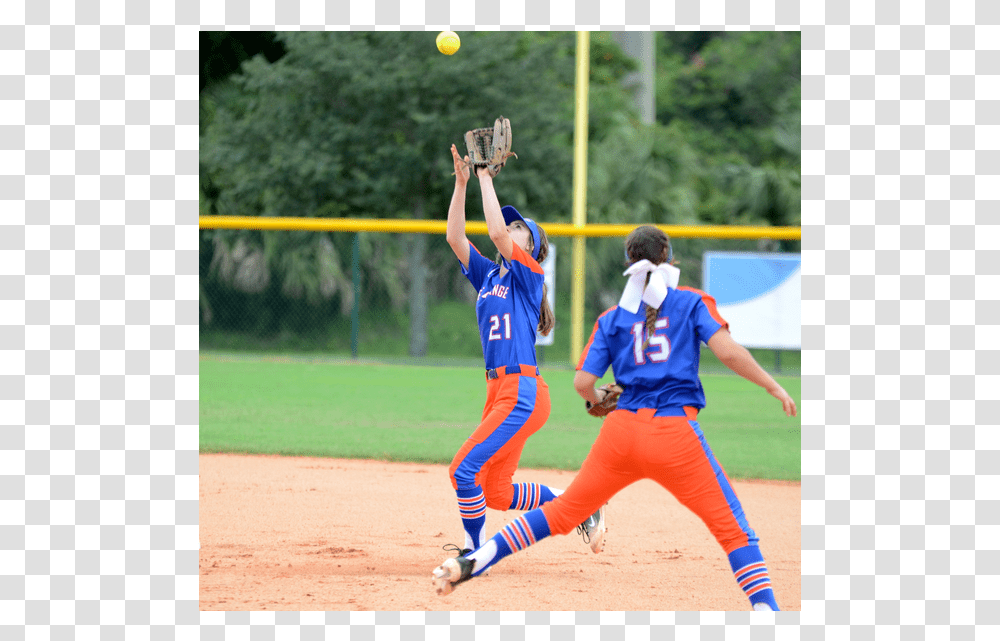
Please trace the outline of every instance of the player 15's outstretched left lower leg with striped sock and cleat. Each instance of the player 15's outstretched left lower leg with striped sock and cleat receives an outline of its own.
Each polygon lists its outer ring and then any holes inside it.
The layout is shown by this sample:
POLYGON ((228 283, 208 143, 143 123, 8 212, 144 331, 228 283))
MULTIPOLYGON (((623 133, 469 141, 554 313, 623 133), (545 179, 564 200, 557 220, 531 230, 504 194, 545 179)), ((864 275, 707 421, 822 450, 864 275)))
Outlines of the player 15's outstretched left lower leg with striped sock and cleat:
POLYGON ((541 510, 525 512, 504 526, 475 552, 445 559, 434 569, 432 575, 434 587, 442 596, 451 594, 459 583, 483 576, 500 559, 534 545, 549 534, 549 522, 541 510))

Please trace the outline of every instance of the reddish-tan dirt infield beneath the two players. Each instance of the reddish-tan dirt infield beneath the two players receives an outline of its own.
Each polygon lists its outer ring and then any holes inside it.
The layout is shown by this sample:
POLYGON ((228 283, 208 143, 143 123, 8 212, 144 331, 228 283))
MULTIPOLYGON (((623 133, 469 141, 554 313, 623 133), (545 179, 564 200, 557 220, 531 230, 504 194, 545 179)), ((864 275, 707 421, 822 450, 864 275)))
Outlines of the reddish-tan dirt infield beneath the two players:
MULTIPOLYGON (((749 610, 704 524, 652 481, 608 506, 608 543, 555 536, 488 577, 434 594, 431 570, 461 543, 445 466, 202 454, 202 610, 749 610)), ((520 470, 565 488, 575 472, 520 470)), ((798 483, 734 482, 778 605, 801 609, 798 483)), ((488 511, 495 533, 521 512, 488 511)))

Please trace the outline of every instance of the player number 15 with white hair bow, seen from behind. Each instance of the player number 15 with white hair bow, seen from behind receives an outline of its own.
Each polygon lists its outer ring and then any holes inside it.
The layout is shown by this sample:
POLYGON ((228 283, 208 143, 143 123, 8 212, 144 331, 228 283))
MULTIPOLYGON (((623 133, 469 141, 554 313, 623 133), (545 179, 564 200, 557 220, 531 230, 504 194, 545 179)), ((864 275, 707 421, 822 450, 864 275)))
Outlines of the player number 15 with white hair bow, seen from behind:
POLYGON ((662 230, 633 230, 625 255, 629 284, 619 305, 594 324, 574 379, 584 399, 599 403, 594 384, 612 367, 615 381, 625 388, 617 409, 605 418, 566 491, 509 523, 476 552, 445 560, 433 572, 438 594, 449 594, 513 552, 552 534, 567 534, 623 488, 649 478, 708 526, 752 608, 778 609, 757 535, 696 421, 705 407, 698 378, 700 343, 708 343, 730 369, 781 401, 786 415, 795 415, 795 402, 733 341, 710 296, 677 288, 680 272, 670 264, 670 240, 662 230))

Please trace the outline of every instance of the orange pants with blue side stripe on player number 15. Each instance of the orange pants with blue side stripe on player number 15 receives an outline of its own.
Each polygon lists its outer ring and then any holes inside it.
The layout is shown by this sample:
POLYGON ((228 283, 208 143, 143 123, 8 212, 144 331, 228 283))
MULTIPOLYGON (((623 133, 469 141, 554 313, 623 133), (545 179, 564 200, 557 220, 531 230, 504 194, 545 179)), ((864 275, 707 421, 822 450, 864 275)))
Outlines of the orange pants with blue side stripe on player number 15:
POLYGON ((654 410, 608 414, 579 474, 566 491, 541 507, 552 534, 568 534, 615 494, 653 479, 697 514, 729 554, 756 544, 729 478, 705 441, 695 408, 679 416, 654 410))

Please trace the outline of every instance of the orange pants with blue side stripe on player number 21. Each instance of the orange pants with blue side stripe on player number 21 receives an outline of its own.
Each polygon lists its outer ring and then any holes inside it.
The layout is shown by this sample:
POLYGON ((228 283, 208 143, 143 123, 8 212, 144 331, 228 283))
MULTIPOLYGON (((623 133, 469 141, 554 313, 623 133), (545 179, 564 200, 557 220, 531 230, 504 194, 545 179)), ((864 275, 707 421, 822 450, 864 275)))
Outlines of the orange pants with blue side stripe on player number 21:
POLYGON ((534 367, 522 365, 520 374, 487 380, 482 422, 448 468, 452 487, 482 486, 486 507, 509 509, 514 498, 511 479, 524 443, 545 424, 551 409, 549 386, 534 367))

